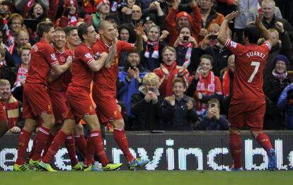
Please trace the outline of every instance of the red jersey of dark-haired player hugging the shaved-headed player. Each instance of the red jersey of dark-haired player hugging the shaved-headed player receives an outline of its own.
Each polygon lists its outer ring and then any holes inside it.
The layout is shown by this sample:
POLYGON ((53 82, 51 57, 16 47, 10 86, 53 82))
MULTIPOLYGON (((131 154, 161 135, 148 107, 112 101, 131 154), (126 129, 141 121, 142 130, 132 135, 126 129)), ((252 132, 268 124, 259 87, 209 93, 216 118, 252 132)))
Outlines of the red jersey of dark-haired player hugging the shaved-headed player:
POLYGON ((91 47, 81 43, 74 49, 74 59, 71 65, 71 82, 69 86, 83 87, 91 92, 91 80, 93 80, 93 71, 89 67, 93 58, 91 47))

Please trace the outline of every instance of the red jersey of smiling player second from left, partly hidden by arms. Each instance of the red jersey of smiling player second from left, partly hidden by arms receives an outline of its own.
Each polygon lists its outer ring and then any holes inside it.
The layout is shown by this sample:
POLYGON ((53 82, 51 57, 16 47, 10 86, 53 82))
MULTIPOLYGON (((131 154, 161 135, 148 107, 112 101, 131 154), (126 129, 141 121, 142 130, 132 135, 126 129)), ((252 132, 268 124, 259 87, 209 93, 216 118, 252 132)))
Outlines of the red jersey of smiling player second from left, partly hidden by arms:
MULTIPOLYGON (((64 52, 58 52, 56 49, 54 49, 55 54, 57 56, 57 59, 59 61, 59 65, 63 65, 66 63, 66 59, 68 56, 72 56, 72 53, 68 50, 65 49, 64 52)), ((67 69, 64 73, 62 73, 57 80, 54 80, 52 83, 48 84, 48 88, 50 90, 60 90, 60 91, 65 91, 67 90, 67 86, 71 80, 71 72, 70 69, 67 69)))

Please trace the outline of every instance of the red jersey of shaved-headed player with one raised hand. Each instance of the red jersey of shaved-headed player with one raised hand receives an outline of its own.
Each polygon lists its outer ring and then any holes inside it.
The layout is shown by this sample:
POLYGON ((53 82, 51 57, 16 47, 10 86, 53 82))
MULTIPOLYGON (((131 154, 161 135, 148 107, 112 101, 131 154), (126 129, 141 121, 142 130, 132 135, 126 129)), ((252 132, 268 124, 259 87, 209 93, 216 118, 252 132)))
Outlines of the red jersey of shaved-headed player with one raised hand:
MULTIPOLYGON (((115 96, 116 95, 116 80, 118 77, 118 61, 120 52, 133 52, 134 44, 118 40, 116 47, 116 54, 110 68, 101 68, 100 71, 95 73, 93 83, 98 87, 98 95, 105 93, 115 96)), ((98 40, 93 44, 93 53, 101 54, 103 52, 109 53, 109 46, 102 40, 98 40)))

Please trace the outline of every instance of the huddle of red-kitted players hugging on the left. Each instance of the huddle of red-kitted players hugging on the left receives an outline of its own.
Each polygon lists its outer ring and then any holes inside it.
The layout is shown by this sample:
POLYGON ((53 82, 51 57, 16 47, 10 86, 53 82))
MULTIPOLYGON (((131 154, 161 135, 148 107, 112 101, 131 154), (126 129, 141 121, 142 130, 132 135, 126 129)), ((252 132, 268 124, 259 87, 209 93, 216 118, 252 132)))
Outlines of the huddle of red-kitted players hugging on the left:
POLYGON ((30 68, 23 89, 25 126, 19 136, 18 158, 13 170, 30 171, 33 166, 34 169, 55 172, 50 162, 63 143, 67 146, 74 170, 101 170, 93 165, 94 155, 98 156, 103 170, 120 168, 122 163, 113 164, 106 157, 100 122, 113 125, 115 141, 127 159, 128 168, 133 170, 144 167, 149 161, 135 159, 130 153, 124 121, 115 100, 117 56, 121 51, 142 51, 142 26, 139 25, 136 30, 135 44, 118 41, 116 30, 106 20, 100 22, 98 40, 93 25, 88 23, 69 31, 81 39, 80 44, 76 39, 74 50, 66 46, 67 34, 64 30, 54 30, 54 25, 48 21, 38 24, 40 42, 33 45, 30 51, 30 68), (96 109, 90 98, 92 81, 96 109), (30 135, 38 126, 38 118, 41 124, 34 138, 33 149, 28 155, 28 165, 25 163, 25 153, 30 135), (81 119, 90 129, 87 141, 84 142, 86 149, 81 148, 84 165, 76 159, 73 135, 74 128, 78 126, 76 123, 81 119))

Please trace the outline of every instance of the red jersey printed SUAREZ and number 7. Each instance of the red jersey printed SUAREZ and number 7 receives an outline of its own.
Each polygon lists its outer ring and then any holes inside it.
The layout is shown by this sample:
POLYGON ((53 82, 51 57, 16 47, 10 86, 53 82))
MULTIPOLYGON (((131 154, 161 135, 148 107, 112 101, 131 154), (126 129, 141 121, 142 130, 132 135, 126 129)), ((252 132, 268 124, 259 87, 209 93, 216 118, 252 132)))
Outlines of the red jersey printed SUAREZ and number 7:
POLYGON ((225 47, 235 54, 232 102, 263 101, 263 68, 270 52, 270 43, 243 46, 227 40, 225 47))

